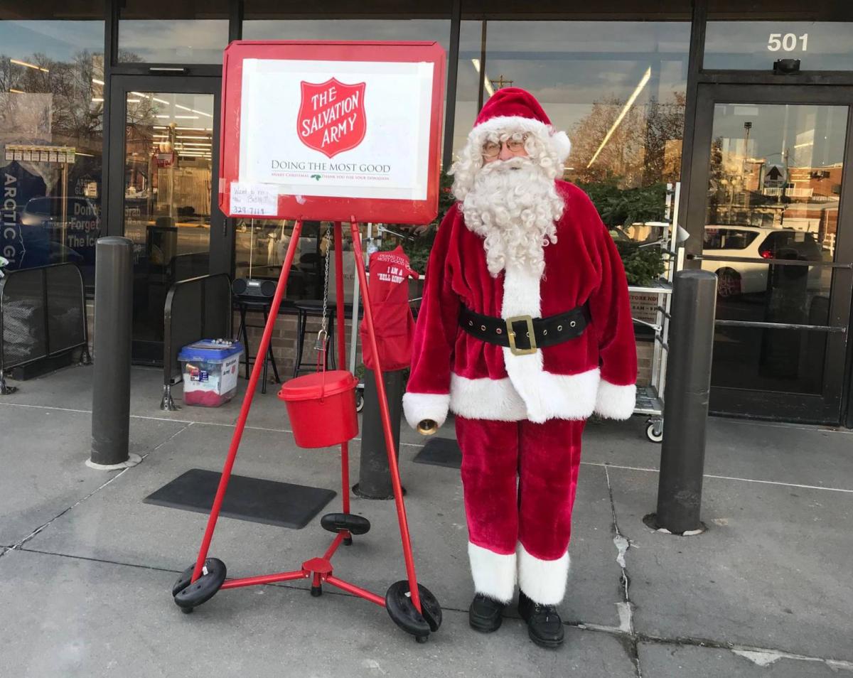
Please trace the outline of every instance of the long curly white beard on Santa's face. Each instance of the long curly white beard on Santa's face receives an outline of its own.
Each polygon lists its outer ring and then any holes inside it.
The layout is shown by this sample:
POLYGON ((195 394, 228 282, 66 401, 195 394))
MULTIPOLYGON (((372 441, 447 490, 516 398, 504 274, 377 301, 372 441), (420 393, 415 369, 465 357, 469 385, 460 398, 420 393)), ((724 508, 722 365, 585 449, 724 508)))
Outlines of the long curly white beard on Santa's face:
POLYGON ((468 229, 483 237, 492 277, 508 267, 541 277, 543 247, 557 241, 555 222, 565 203, 554 179, 525 157, 483 165, 462 201, 468 229))

